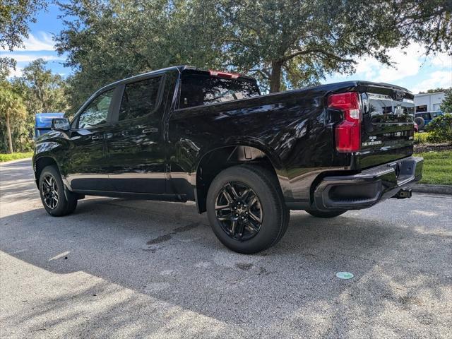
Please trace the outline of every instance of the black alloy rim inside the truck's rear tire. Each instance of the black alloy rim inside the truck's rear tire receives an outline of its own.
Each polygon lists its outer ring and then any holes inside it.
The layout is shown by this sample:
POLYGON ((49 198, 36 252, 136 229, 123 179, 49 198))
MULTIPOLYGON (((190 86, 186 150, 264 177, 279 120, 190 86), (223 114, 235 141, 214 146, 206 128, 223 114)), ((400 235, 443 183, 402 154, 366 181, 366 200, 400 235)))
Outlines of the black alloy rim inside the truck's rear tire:
POLYGON ((215 213, 222 230, 232 239, 243 242, 261 230, 261 201, 241 182, 228 182, 222 187, 215 199, 215 213))

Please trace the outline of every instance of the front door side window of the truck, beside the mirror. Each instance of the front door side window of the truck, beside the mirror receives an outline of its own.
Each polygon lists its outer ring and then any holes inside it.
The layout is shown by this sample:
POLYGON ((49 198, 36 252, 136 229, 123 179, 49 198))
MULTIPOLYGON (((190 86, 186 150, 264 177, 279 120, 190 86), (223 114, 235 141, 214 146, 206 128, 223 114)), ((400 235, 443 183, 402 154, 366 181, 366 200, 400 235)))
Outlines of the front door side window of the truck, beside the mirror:
POLYGON ((113 93, 114 88, 95 97, 78 117, 79 129, 88 129, 107 122, 108 109, 112 102, 113 93))

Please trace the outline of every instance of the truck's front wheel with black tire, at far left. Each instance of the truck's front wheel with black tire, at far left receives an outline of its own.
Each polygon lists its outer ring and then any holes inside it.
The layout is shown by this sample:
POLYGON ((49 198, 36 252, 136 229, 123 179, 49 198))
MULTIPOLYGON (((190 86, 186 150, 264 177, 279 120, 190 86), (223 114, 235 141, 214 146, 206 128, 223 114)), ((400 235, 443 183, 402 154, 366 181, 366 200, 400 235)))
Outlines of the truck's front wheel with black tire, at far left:
POLYGON ((67 190, 65 192, 63 180, 61 180, 57 167, 51 165, 42 169, 39 189, 42 206, 49 215, 61 217, 76 210, 76 195, 67 190))

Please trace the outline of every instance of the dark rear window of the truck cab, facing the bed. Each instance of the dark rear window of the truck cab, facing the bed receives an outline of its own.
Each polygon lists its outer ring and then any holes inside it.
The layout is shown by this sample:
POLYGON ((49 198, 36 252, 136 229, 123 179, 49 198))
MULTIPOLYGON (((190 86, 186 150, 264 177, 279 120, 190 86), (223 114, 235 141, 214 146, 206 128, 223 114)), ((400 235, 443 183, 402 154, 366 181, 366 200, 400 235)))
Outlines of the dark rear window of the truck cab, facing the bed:
POLYGON ((193 107, 244 99, 259 95, 258 87, 249 79, 231 79, 208 74, 182 73, 179 107, 193 107))

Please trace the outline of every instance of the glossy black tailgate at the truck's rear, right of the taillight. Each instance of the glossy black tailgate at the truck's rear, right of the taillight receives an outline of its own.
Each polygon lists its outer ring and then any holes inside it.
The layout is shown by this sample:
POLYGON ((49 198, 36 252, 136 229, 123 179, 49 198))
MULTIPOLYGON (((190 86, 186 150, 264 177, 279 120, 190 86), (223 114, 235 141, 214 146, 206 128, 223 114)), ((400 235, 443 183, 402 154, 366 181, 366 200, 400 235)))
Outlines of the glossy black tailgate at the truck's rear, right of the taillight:
POLYGON ((391 85, 368 85, 361 92, 361 169, 412 155, 414 96, 391 85))

